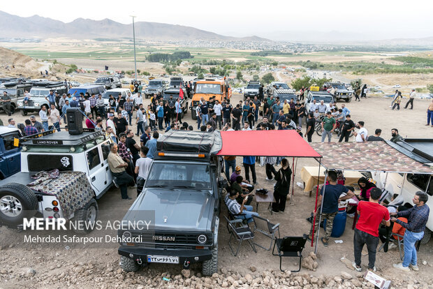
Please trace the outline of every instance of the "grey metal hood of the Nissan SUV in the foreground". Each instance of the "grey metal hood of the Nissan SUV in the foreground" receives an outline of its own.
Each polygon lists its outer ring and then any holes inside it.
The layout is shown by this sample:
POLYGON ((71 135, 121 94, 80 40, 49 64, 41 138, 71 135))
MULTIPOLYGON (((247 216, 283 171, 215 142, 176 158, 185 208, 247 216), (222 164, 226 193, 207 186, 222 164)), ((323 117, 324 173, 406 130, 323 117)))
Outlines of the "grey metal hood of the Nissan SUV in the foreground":
POLYGON ((140 211, 154 211, 155 230, 203 232, 210 230, 213 207, 211 191, 145 188, 124 216, 124 221, 137 221, 140 211))

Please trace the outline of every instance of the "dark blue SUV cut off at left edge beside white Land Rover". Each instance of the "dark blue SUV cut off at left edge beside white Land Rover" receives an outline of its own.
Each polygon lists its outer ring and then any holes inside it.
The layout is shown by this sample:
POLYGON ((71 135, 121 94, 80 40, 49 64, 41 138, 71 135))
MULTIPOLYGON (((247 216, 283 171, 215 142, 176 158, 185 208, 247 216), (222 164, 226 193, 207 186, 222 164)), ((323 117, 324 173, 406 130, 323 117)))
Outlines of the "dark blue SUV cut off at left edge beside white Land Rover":
POLYGON ((17 128, 0 126, 0 179, 20 172, 20 148, 14 145, 14 141, 21 137, 22 133, 17 128))

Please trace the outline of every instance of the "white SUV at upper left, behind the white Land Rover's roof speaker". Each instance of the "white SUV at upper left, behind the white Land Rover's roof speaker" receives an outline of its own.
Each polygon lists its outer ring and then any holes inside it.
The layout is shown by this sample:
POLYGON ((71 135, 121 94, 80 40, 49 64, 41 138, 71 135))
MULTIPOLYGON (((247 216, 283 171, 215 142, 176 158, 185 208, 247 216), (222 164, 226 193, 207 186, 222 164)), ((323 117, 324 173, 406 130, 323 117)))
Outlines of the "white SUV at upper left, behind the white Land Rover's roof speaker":
POLYGON ((27 115, 28 112, 38 112, 43 106, 50 108, 50 103, 45 99, 50 94, 50 90, 54 90, 61 96, 66 94, 68 88, 64 82, 34 82, 34 87, 31 87, 29 91, 29 101, 24 104, 24 96, 20 96, 17 101, 17 109, 21 110, 22 115, 27 115))

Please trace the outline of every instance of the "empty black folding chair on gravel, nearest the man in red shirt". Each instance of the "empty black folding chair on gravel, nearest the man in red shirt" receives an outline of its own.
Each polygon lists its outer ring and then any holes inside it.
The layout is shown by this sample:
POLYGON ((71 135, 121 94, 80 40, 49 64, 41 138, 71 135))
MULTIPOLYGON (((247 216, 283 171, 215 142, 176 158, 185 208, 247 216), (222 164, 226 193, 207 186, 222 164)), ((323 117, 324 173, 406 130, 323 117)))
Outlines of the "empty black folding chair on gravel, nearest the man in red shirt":
POLYGON ((299 257, 299 269, 292 272, 300 272, 302 261, 302 250, 304 250, 305 242, 307 239, 304 237, 284 237, 282 239, 275 239, 274 249, 272 255, 279 256, 279 269, 281 269, 281 259, 283 257, 299 257), (275 254, 275 247, 277 247, 278 254, 275 254))

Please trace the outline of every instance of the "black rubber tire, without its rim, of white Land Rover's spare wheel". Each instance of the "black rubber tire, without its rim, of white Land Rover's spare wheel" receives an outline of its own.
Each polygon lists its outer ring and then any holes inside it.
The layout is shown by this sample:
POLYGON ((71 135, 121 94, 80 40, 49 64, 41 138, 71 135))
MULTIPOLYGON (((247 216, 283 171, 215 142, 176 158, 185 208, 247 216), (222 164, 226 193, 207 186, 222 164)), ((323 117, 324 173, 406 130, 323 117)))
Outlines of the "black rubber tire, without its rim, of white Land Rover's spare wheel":
POLYGON ((7 196, 13 197, 20 202, 20 213, 17 214, 17 216, 7 216, 1 210, 6 204, 0 202, 0 223, 10 226, 20 225, 24 218, 31 218, 36 214, 38 198, 36 198, 35 193, 27 186, 17 183, 0 186, 0 200, 7 196))

